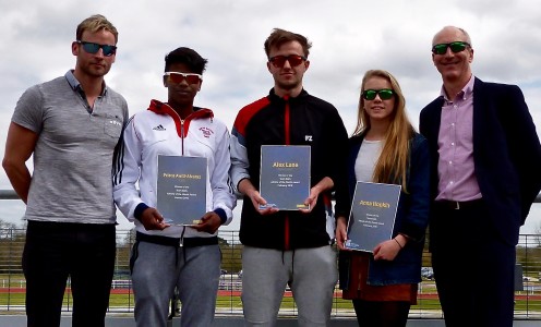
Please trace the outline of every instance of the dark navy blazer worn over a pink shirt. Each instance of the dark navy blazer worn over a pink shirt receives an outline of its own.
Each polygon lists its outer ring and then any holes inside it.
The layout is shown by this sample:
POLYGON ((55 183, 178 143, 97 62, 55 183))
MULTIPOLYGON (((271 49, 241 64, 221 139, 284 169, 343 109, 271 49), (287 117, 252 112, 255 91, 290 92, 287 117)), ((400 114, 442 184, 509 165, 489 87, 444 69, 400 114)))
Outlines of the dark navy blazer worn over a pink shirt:
MULTIPOLYGON (((421 110, 419 128, 430 146, 431 195, 437 195, 442 96, 421 110)), ((473 84, 473 160, 490 223, 516 245, 531 204, 541 189, 541 145, 528 106, 516 85, 473 84)), ((431 217, 434 220, 436 217, 431 217)))

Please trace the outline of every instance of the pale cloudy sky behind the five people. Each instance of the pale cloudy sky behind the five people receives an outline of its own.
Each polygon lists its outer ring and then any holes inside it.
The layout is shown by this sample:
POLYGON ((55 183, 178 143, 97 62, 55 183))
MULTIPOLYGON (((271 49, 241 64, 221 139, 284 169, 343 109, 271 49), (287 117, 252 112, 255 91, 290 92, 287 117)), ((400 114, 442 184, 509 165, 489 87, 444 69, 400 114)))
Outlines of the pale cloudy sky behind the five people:
MULTIPOLYGON (((456 25, 472 38, 473 74, 519 85, 539 132, 541 25, 534 8, 533 0, 0 0, 0 156, 16 100, 31 85, 74 66, 75 27, 95 13, 119 29, 117 61, 106 81, 127 98, 131 113, 145 110, 153 98, 166 99, 164 56, 187 46, 208 59, 196 105, 231 126, 238 110, 273 85, 263 41, 280 27, 313 43, 304 87, 334 104, 349 132, 360 81, 370 69, 398 78, 417 126, 420 109, 441 87, 432 37, 456 25)), ((2 170, 0 190, 8 189, 2 170)))

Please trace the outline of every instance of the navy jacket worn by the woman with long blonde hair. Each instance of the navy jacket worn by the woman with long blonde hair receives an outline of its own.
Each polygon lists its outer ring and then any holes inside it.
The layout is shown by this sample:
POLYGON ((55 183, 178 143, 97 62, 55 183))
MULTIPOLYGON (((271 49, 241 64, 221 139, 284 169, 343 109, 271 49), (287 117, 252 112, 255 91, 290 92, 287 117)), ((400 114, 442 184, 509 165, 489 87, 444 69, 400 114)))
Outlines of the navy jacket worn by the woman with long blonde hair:
MULTIPOLYGON (((363 135, 349 140, 348 185, 353 197, 357 179, 354 164, 363 135)), ((394 261, 370 261, 368 283, 373 286, 418 283, 421 281, 422 251, 424 233, 429 223, 430 207, 430 169, 429 144, 426 140, 414 133, 410 141, 410 157, 406 177, 406 187, 400 193, 393 237, 399 233, 410 240, 394 261)), ((362 159, 362 158, 361 158, 362 159)))

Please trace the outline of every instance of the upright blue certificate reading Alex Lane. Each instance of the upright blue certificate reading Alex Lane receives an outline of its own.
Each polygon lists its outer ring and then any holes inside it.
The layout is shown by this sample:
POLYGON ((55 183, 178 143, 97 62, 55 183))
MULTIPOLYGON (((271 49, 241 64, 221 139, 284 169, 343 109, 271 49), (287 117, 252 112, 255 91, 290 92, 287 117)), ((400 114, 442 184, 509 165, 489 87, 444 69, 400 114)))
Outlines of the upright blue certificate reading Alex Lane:
POLYGON ((260 194, 267 207, 280 210, 308 209, 310 195, 310 146, 262 145, 260 194))

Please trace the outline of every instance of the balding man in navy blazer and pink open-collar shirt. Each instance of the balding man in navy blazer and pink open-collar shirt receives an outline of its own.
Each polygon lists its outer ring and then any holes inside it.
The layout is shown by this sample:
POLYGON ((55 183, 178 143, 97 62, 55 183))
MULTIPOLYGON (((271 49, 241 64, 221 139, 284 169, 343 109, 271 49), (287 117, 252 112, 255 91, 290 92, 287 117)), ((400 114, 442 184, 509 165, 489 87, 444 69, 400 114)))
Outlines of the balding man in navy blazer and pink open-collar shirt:
POLYGON ((446 326, 513 326, 515 246, 541 189, 541 145, 520 88, 471 73, 468 33, 432 41, 443 80, 420 116, 431 154, 430 247, 446 326))

